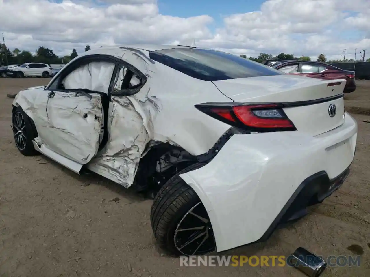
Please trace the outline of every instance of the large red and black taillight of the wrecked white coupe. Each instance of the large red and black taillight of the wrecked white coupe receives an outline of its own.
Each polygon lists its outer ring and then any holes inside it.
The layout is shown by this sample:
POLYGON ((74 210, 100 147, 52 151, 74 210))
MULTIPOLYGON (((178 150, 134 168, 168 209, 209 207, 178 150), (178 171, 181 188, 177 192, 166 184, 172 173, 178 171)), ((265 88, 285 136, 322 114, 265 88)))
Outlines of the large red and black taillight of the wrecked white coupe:
POLYGON ((280 104, 205 103, 195 107, 215 119, 250 131, 296 130, 280 104))

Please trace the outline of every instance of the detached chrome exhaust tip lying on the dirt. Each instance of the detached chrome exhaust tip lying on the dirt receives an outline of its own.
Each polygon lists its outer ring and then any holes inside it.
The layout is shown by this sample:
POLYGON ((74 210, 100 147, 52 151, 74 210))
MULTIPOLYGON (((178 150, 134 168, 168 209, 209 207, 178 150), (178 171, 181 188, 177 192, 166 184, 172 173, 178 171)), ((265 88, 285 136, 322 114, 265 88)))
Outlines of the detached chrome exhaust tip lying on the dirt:
POLYGON ((290 266, 299 269, 309 277, 319 277, 327 266, 322 258, 303 247, 298 247, 296 251, 289 256, 288 262, 290 266))

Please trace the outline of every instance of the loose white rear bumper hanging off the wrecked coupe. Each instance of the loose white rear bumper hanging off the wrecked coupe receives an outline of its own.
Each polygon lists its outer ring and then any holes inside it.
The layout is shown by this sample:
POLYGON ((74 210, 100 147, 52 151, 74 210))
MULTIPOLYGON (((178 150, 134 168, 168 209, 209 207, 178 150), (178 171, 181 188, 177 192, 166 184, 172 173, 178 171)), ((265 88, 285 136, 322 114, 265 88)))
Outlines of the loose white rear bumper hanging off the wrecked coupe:
POLYGON ((234 135, 213 160, 181 174, 208 211, 217 251, 267 239, 321 202, 348 175, 357 123, 319 136, 299 131, 234 135))

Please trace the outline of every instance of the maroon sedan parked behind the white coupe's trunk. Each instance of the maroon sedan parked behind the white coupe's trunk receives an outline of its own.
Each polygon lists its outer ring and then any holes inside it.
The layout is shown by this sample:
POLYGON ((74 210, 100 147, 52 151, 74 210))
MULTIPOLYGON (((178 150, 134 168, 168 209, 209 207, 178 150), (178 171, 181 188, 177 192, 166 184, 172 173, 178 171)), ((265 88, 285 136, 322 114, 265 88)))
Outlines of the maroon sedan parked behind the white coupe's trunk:
POLYGON ((325 80, 346 79, 347 83, 344 87, 344 93, 350 93, 356 90, 354 71, 343 70, 329 64, 308 61, 289 61, 273 66, 273 68, 288 74, 297 74, 325 80))

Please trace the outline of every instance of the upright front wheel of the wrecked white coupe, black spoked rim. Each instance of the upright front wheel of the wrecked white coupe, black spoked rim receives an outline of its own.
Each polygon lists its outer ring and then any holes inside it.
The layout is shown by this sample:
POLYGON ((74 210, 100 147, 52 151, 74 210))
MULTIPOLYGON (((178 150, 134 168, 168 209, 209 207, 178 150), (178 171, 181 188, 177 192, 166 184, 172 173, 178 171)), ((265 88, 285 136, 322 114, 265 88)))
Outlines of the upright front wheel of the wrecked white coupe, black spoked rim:
POLYGON ((34 131, 30 122, 30 118, 21 107, 13 110, 11 116, 13 126, 13 136, 16 146, 20 153, 25 156, 34 156, 38 154, 35 150, 32 140, 34 139, 34 131))

